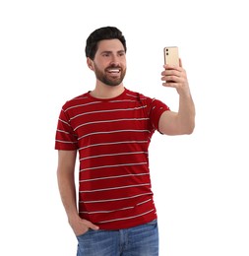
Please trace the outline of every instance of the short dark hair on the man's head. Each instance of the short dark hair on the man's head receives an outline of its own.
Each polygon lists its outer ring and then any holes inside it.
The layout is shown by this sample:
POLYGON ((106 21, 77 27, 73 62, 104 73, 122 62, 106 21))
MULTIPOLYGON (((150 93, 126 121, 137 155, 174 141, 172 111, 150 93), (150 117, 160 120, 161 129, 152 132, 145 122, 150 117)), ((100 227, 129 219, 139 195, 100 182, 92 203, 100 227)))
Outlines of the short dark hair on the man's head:
POLYGON ((126 52, 126 40, 122 32, 115 27, 103 27, 93 31, 89 35, 85 48, 86 56, 93 60, 97 50, 97 42, 105 39, 119 39, 126 52))

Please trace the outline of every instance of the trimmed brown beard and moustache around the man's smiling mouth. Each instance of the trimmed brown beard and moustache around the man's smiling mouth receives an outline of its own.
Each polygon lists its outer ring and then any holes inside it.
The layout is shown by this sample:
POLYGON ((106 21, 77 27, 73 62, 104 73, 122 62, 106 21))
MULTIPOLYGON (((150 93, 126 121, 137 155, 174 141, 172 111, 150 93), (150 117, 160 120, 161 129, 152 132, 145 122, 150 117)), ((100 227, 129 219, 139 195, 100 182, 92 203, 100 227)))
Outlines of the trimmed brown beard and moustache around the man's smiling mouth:
POLYGON ((95 71, 95 77, 97 80, 101 81, 104 85, 109 87, 116 87, 120 85, 123 82, 123 79, 126 74, 126 69, 121 68, 118 65, 110 65, 104 71, 102 72, 100 69, 97 68, 95 64, 94 65, 94 71, 95 71), (116 78, 108 78, 108 69, 119 69, 120 76, 116 78))

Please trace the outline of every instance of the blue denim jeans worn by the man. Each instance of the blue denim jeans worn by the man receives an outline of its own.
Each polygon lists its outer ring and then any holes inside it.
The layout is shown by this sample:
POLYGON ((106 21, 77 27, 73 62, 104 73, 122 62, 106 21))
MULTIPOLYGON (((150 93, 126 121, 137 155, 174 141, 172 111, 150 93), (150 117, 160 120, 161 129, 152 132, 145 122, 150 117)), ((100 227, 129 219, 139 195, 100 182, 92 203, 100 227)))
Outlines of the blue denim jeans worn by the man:
POLYGON ((77 239, 77 256, 158 256, 156 220, 118 230, 90 229, 77 239))

